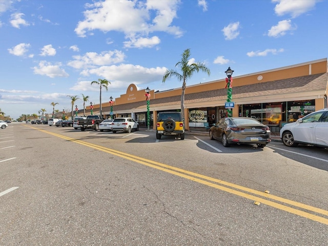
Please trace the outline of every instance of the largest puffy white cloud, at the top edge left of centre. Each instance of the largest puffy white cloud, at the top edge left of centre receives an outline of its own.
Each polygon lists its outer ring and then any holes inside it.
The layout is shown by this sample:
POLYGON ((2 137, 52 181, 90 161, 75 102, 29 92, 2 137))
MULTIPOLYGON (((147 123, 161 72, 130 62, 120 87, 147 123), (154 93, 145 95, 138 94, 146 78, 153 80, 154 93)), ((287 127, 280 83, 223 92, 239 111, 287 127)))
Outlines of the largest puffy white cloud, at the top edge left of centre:
POLYGON ((78 22, 75 32, 78 36, 85 37, 87 34, 93 35, 94 30, 117 31, 125 33, 126 39, 131 39, 126 43, 128 47, 140 48, 143 43, 146 43, 145 47, 152 47, 150 44, 159 43, 159 38, 149 38, 148 34, 151 32, 162 31, 177 37, 182 36, 178 27, 171 26, 179 3, 179 0, 171 0, 147 3, 105 1, 86 4, 89 9, 84 12, 85 20, 78 22))

